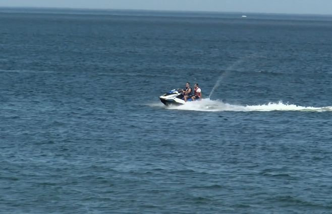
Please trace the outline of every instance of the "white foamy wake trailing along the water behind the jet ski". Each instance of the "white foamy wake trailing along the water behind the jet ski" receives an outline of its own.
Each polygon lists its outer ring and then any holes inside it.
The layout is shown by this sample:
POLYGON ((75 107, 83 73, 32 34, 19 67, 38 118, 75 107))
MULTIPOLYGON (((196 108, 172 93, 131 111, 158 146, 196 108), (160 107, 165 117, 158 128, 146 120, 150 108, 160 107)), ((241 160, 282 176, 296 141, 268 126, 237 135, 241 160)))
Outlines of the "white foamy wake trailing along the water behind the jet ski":
POLYGON ((189 111, 332 111, 332 106, 326 107, 304 107, 294 104, 267 103, 263 105, 232 105, 219 100, 203 99, 195 102, 187 102, 181 106, 165 106, 167 109, 189 110, 189 111))

